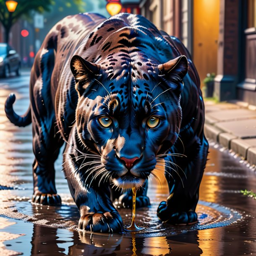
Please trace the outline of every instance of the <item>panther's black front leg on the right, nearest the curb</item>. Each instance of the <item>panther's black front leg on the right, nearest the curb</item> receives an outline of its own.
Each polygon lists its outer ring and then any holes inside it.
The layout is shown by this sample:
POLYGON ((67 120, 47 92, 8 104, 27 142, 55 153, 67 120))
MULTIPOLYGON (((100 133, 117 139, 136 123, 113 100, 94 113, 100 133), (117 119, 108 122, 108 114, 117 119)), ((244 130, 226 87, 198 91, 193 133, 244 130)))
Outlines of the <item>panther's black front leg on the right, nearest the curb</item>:
POLYGON ((191 225, 197 222, 195 210, 208 152, 208 142, 202 137, 201 144, 195 143, 187 149, 187 152, 191 153, 186 159, 167 157, 166 165, 169 167, 166 167, 165 175, 170 196, 167 201, 162 201, 157 209, 157 216, 163 222, 172 225, 191 225))

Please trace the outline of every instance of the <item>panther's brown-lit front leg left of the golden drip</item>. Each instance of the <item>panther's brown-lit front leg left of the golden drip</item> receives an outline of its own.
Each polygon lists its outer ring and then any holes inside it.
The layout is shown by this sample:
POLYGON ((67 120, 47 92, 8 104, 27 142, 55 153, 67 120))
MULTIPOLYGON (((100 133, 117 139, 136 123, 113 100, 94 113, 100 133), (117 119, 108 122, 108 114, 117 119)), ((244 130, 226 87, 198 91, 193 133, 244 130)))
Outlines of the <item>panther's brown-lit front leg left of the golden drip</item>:
POLYGON ((104 179, 102 179, 99 182, 100 178, 95 180, 96 171, 90 174, 91 170, 97 169, 97 164, 92 163, 93 157, 89 159, 87 157, 84 161, 83 155, 78 154, 74 147, 69 145, 63 154, 65 178, 81 216, 78 227, 81 230, 93 232, 122 232, 123 220, 112 204, 107 181, 104 183, 104 179), (83 168, 82 165, 86 165, 88 168, 83 168))

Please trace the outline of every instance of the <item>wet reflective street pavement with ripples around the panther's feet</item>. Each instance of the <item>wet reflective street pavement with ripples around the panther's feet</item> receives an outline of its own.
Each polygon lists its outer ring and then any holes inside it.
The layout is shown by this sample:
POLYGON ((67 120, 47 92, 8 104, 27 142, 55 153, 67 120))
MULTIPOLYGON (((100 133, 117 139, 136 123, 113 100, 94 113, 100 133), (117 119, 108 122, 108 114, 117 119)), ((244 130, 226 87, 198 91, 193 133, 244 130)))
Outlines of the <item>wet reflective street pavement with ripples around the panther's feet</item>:
MULTIPOLYGON (((163 179, 161 186, 152 178, 152 205, 136 211, 137 224, 145 230, 123 235, 79 231, 79 212, 61 172, 61 156, 55 166, 62 206, 32 205, 31 126, 15 127, 4 113, 10 92, 16 93, 16 112, 26 112, 28 85, 29 72, 0 79, 0 255, 256 255, 256 200, 240 193, 256 192, 255 172, 214 143, 201 183, 196 225, 159 222, 156 209, 167 197, 167 186, 163 179)), ((131 210, 118 210, 129 224, 131 210)))

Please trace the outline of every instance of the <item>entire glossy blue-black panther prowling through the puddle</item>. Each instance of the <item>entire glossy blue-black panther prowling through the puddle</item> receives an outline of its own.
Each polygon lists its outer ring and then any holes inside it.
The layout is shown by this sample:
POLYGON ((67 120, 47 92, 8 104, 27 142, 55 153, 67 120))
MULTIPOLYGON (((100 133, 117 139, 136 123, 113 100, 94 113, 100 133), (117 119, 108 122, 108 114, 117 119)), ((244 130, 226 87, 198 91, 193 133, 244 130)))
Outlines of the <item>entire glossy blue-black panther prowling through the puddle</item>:
POLYGON ((204 102, 191 55, 176 37, 140 15, 67 16, 47 34, 30 77, 30 106, 10 122, 32 123, 32 202, 61 204, 54 162, 65 144, 63 172, 80 211, 78 227, 123 232, 113 201, 149 206, 148 178, 164 167, 170 196, 157 216, 197 222, 206 165, 204 102))

